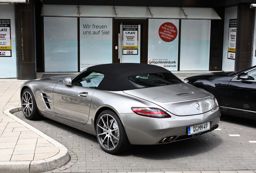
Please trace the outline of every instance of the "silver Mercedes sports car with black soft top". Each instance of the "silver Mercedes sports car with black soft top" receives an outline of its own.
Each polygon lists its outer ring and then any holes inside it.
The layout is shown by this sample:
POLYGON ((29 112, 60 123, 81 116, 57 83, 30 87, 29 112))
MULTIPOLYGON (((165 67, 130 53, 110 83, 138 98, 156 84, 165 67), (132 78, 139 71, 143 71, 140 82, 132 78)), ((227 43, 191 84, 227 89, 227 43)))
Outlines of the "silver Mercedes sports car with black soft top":
POLYGON ((96 135, 111 154, 198 137, 217 129, 221 116, 211 93, 150 64, 101 64, 29 80, 21 104, 27 119, 42 115, 96 135))

